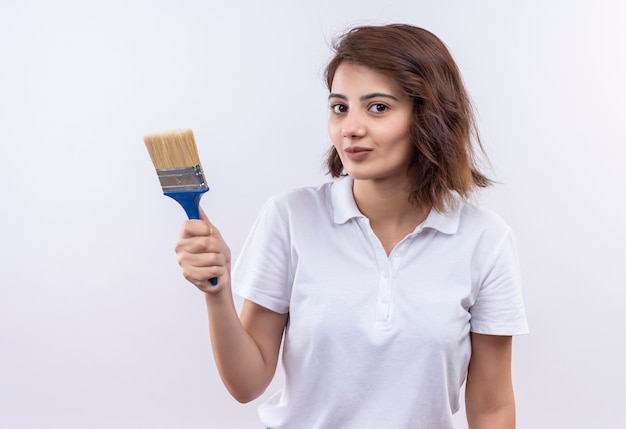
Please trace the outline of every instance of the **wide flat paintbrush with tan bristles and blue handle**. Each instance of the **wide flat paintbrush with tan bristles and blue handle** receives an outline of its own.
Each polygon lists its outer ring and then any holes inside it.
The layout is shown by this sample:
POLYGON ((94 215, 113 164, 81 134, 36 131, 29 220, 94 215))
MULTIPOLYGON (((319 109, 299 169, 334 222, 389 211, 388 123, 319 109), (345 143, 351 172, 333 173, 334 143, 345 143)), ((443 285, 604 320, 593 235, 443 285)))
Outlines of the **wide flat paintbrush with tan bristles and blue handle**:
MULTIPOLYGON (((200 219, 200 198, 209 190, 191 130, 144 136, 163 194, 176 200, 189 219, 200 219)), ((217 285, 217 277, 210 279, 217 285)))

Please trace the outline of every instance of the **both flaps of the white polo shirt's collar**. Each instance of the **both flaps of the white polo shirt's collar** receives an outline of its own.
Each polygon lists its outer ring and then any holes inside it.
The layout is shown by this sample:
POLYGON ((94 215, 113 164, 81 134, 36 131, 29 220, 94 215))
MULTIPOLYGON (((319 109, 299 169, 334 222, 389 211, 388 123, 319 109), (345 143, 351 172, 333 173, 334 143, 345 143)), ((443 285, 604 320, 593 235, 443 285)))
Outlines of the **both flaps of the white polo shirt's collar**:
MULTIPOLYGON (((344 224, 352 218, 365 216, 359 211, 352 194, 352 178, 344 176, 332 184, 331 199, 333 207, 333 220, 336 224, 344 224)), ((450 209, 444 213, 432 209, 416 229, 416 231, 424 228, 432 228, 444 234, 454 234, 459 227, 459 219, 461 216, 461 204, 459 207, 450 209)))

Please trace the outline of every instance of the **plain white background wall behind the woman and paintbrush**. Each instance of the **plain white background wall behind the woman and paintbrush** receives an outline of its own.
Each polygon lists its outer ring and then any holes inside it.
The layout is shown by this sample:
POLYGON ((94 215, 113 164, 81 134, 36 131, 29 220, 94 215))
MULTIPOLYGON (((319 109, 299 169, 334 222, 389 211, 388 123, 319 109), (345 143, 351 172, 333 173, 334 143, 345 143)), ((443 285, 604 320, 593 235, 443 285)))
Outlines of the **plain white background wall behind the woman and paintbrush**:
POLYGON ((406 22, 457 59, 502 183, 482 203, 516 231, 518 427, 623 429, 625 20, 619 0, 1 0, 0 428, 260 428, 219 380, 142 137, 194 130, 236 255, 268 196, 327 180, 329 41, 406 22))

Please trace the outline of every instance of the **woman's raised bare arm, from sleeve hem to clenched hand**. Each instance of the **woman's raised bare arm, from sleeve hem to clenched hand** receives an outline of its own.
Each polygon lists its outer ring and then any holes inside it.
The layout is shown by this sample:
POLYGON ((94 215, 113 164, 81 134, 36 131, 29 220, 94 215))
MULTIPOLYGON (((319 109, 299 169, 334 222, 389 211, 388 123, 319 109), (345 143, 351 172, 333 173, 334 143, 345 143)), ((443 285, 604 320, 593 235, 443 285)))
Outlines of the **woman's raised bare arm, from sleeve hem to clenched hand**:
POLYGON ((244 301, 239 319, 230 291, 230 249, 202 210, 200 216, 183 225, 178 264, 183 276, 206 293, 211 345, 224 385, 238 401, 248 402, 265 391, 276 372, 287 314, 244 301), (210 281, 214 277, 216 286, 210 281))

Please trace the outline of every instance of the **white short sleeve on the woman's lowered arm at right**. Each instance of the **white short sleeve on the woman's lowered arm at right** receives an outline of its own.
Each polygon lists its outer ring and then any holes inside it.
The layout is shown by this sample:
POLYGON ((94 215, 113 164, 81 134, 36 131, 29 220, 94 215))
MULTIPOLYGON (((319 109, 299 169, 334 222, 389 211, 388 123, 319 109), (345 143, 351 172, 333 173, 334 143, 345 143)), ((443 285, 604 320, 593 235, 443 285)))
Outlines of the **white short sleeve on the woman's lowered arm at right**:
POLYGON ((485 272, 470 307, 471 331, 488 335, 527 334, 519 259, 510 229, 490 259, 483 261, 485 272))

